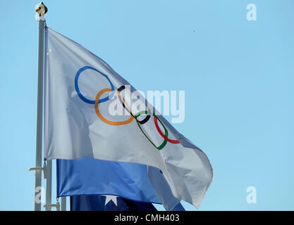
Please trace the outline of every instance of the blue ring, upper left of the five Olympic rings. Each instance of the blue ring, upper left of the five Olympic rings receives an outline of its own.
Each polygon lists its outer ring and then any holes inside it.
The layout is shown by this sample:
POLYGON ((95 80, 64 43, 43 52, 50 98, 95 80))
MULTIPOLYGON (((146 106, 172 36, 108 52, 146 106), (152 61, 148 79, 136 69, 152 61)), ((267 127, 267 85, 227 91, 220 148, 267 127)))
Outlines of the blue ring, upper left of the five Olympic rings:
POLYGON ((107 77, 106 75, 104 75, 104 73, 100 72, 99 70, 96 70, 95 68, 92 68, 90 66, 84 66, 83 68, 80 68, 80 70, 78 70, 77 74, 75 75, 75 91, 77 91, 78 96, 80 97, 80 99, 82 99, 82 101, 85 101, 85 103, 89 103, 89 104, 95 104, 95 101, 89 100, 87 98, 85 98, 82 93, 80 93, 80 89, 78 88, 78 78, 80 77, 81 72, 83 72, 84 70, 95 70, 97 72, 99 72, 101 75, 103 75, 104 77, 106 77, 106 79, 108 79, 110 86, 111 86, 111 93, 109 96, 105 97, 105 98, 101 98, 99 99, 98 103, 104 103, 104 101, 109 101, 110 98, 112 98, 114 96, 114 85, 111 83, 109 77, 107 77))

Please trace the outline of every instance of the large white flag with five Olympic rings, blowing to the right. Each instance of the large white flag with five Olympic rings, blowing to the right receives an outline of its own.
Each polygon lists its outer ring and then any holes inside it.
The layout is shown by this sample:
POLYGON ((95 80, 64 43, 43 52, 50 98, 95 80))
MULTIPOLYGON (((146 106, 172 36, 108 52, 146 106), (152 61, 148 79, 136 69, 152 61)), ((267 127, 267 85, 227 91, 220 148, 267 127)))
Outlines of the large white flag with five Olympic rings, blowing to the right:
MULTIPOLYGON (((156 167, 178 201, 200 206, 212 182, 212 167, 200 148, 145 99, 144 110, 133 107, 138 99, 142 103, 133 86, 102 59, 49 27, 45 56, 44 158, 95 158, 156 167), (133 93, 139 98, 128 98, 133 93), (119 105, 112 108, 117 100, 119 105), (114 114, 119 107, 125 109, 123 115, 114 114)), ((149 180, 161 195, 160 177, 152 174, 149 180)))

